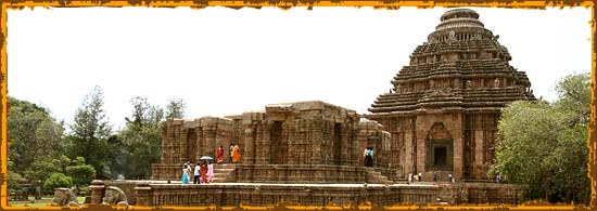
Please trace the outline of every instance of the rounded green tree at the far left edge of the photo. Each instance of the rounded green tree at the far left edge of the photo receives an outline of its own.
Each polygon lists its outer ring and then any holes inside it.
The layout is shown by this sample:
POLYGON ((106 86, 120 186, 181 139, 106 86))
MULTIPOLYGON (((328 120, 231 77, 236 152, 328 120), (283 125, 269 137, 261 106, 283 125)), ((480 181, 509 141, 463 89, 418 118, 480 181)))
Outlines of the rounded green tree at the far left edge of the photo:
POLYGON ((49 109, 9 96, 8 134, 10 169, 23 174, 31 163, 64 153, 64 123, 49 109))

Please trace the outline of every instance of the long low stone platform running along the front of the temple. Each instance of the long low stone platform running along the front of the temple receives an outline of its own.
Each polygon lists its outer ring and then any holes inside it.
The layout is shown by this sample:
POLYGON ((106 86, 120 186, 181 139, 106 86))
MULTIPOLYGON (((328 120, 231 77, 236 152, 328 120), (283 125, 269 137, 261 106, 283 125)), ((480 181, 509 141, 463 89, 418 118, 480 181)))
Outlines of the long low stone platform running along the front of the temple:
MULTIPOLYGON (((415 184, 180 184, 166 181, 105 181, 104 187, 120 187, 137 206, 352 206, 371 202, 393 205, 516 205, 522 189, 493 183, 415 184)), ((96 184, 93 196, 102 189, 96 184)))

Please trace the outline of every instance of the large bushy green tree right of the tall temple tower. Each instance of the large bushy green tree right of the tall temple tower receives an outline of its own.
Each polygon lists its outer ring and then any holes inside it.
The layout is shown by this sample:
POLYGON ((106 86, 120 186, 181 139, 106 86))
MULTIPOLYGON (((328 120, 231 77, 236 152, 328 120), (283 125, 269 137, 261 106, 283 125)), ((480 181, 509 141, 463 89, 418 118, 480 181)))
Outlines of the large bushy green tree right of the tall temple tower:
POLYGON ((572 75, 556 87, 559 100, 513 102, 501 110, 496 160, 488 175, 529 187, 529 199, 587 203, 590 78, 572 75))

